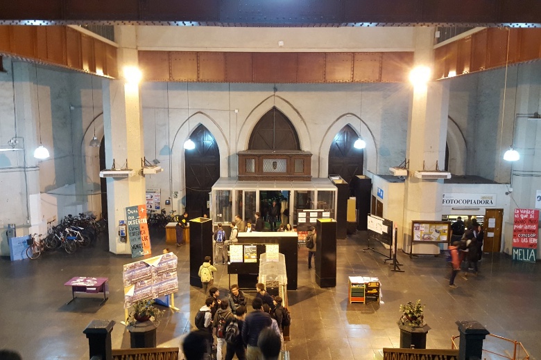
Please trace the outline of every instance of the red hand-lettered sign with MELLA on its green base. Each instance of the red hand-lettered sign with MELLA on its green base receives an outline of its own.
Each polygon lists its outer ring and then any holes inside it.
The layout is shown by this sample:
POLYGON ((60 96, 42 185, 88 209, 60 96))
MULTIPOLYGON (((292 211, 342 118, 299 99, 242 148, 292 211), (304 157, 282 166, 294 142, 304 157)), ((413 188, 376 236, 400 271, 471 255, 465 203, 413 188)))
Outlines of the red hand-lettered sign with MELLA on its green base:
POLYGON ((513 260, 535 262, 539 210, 517 208, 513 217, 513 260))

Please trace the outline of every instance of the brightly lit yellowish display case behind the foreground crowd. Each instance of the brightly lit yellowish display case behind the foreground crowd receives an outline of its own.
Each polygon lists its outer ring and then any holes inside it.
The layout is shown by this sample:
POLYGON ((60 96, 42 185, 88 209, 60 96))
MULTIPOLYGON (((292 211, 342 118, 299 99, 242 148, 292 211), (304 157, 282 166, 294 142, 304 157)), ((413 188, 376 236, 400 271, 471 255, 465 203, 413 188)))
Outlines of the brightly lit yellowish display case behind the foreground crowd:
MULTIPOLYGON (((278 244, 267 244, 269 246, 278 244)), ((271 296, 282 296, 286 294, 287 274, 286 258, 284 254, 273 251, 272 253, 262 253, 259 258, 259 282, 265 285, 266 291, 271 296)))

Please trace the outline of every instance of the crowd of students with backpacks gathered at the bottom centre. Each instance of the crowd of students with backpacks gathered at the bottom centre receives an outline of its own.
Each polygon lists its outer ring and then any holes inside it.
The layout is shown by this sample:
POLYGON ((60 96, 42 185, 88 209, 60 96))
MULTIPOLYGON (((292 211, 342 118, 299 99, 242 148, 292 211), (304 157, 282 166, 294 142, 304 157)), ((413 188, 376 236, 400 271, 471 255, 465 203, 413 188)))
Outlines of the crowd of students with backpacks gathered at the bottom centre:
POLYGON ((209 297, 195 318, 196 332, 191 332, 182 344, 187 360, 211 357, 216 338, 216 359, 239 360, 278 359, 283 343, 283 328, 291 323, 289 312, 282 306, 282 298, 273 298, 264 284, 257 284, 257 295, 252 300, 253 312, 246 314, 246 297, 239 285, 232 285, 227 298, 220 298, 216 287, 209 289, 209 297))

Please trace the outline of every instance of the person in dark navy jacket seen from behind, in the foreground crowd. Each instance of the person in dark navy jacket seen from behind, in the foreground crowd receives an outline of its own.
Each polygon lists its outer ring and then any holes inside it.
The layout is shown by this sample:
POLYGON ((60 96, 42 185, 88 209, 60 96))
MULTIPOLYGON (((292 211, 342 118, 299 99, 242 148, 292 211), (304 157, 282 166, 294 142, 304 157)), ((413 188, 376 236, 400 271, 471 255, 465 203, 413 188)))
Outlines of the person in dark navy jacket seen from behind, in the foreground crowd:
POLYGON ((261 330, 272 324, 271 315, 263 312, 263 301, 260 298, 252 300, 253 312, 246 316, 242 326, 242 341, 247 345, 246 359, 261 360, 261 350, 257 347, 257 339, 261 330))

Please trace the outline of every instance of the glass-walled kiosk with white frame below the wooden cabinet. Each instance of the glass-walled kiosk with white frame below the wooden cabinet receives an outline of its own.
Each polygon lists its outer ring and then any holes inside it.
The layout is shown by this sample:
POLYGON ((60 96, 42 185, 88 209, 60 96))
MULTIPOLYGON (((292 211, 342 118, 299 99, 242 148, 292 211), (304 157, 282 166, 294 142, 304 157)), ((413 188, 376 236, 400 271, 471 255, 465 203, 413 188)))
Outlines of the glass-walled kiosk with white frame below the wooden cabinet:
POLYGON ((265 221, 279 208, 277 222, 295 226, 298 210, 320 209, 331 213, 336 209, 336 186, 329 179, 313 178, 311 181, 239 181, 237 178, 220 178, 212 186, 211 219, 227 223, 240 215, 244 221, 255 220, 259 211, 265 221), (275 204, 273 204, 273 202, 275 204))

